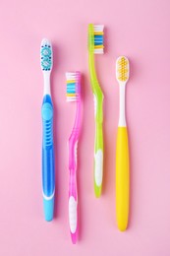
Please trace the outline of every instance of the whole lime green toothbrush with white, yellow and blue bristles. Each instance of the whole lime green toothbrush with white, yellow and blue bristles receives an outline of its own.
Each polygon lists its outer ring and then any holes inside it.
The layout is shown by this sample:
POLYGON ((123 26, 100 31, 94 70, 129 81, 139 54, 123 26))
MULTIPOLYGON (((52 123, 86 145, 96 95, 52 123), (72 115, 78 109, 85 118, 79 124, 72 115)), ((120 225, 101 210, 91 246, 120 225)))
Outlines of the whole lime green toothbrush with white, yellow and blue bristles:
POLYGON ((103 177, 103 94, 100 89, 94 66, 94 54, 103 54, 103 25, 88 25, 88 66, 91 89, 94 96, 95 146, 94 146, 94 192, 99 197, 103 177))

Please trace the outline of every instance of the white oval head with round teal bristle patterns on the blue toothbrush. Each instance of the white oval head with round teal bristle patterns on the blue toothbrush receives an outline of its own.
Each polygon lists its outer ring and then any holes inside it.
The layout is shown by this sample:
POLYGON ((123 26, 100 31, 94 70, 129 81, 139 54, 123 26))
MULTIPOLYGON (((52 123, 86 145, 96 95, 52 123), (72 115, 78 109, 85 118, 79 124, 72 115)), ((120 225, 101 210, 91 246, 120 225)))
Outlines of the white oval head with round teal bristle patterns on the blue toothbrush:
POLYGON ((40 45, 40 66, 42 71, 51 72, 53 63, 52 46, 48 39, 42 39, 40 45))

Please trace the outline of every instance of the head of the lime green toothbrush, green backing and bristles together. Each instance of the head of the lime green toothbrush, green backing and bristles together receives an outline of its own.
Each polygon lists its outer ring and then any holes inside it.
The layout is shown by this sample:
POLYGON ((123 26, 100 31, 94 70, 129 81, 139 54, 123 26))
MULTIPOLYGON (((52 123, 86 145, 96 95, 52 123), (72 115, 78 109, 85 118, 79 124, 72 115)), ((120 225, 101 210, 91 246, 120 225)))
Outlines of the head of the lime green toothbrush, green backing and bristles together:
POLYGON ((103 25, 88 25, 88 51, 95 54, 104 53, 104 26, 103 25))

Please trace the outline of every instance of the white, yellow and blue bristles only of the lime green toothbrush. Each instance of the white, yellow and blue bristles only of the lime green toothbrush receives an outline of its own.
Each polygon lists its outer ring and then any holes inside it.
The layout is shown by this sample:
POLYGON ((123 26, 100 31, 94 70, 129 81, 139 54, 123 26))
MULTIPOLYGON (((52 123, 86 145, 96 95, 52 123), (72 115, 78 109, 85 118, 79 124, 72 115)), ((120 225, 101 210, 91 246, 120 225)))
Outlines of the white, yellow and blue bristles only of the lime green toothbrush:
POLYGON ((94 25, 94 53, 103 54, 104 53, 104 26, 103 25, 94 25))

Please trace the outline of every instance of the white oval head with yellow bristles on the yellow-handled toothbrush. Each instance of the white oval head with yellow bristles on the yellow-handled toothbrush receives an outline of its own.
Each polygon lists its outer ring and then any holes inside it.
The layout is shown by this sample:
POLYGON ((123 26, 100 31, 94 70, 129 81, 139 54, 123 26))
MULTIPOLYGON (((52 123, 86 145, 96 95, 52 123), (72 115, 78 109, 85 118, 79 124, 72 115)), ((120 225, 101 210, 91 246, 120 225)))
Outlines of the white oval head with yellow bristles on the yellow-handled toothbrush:
POLYGON ((125 56, 120 56, 116 61, 116 79, 118 83, 127 83, 130 76, 129 60, 125 56))

